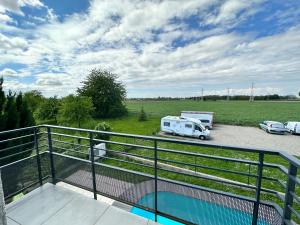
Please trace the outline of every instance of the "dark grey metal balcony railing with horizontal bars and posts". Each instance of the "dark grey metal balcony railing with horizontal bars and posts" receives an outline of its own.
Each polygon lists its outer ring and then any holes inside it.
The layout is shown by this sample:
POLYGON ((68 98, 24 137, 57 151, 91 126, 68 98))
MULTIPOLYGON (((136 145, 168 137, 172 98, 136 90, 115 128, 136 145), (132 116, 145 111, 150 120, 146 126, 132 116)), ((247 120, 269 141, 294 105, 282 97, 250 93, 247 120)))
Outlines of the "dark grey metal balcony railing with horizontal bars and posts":
MULTIPOLYGON (((7 130, 7 131, 2 131, 0 132, 0 137, 3 134, 10 134, 10 133, 15 133, 15 132, 22 132, 22 131, 34 131, 32 134, 27 134, 27 133, 21 133, 20 137, 15 137, 15 136, 7 136, 5 139, 1 138, 0 140, 0 144, 1 143, 6 143, 6 142, 10 142, 10 141, 14 141, 14 140, 18 140, 21 138, 26 138, 26 137, 31 137, 34 136, 34 149, 36 150, 36 154, 35 156, 37 156, 37 164, 39 166, 39 180, 40 180, 40 185, 42 185, 42 174, 41 174, 41 162, 40 162, 40 153, 39 153, 39 143, 38 143, 38 139, 39 139, 39 134, 43 134, 46 133, 48 134, 48 138, 46 138, 48 140, 48 152, 50 154, 50 166, 51 166, 51 173, 52 173, 52 182, 55 184, 56 183, 56 176, 55 176, 55 169, 54 169, 54 161, 53 161, 53 155, 57 154, 54 153, 52 151, 52 138, 51 135, 62 135, 62 136, 68 136, 68 137, 72 137, 72 138, 77 138, 77 139, 84 139, 89 141, 90 145, 89 148, 91 149, 90 151, 90 160, 91 161, 91 170, 92 170, 92 175, 93 177, 93 190, 94 190, 94 198, 97 199, 97 187, 96 187, 96 183, 95 183, 95 168, 94 165, 97 164, 94 161, 94 145, 95 142, 102 142, 101 139, 96 139, 94 138, 94 134, 106 134, 106 135, 110 135, 110 136, 116 136, 116 137, 124 137, 124 138, 133 138, 135 139, 141 139, 141 140, 146 140, 149 142, 145 142, 142 145, 135 145, 136 147, 145 147, 146 149, 150 149, 153 150, 154 152, 154 158, 150 158, 153 159, 154 162, 154 166, 151 166, 154 168, 154 180, 155 180, 155 218, 157 218, 157 215, 159 215, 159 211, 157 211, 157 181, 158 180, 164 180, 163 178, 159 177, 157 175, 157 171, 160 170, 165 170, 166 169, 162 169, 158 167, 158 161, 164 161, 164 159, 160 159, 159 157, 157 157, 157 153, 158 152, 169 152, 169 153, 174 153, 174 154, 186 154, 188 156, 195 156, 195 157, 204 157, 204 158, 209 158, 209 159, 214 159, 214 160, 223 160, 223 161, 232 161, 232 162, 237 162, 237 163, 245 163, 245 164, 249 164, 249 174, 248 173, 242 173, 242 172, 237 172, 237 171, 231 171, 228 169, 218 169, 217 171, 224 171, 224 172, 230 172, 230 173, 234 173, 234 174, 239 174, 239 175, 245 175, 248 176, 248 185, 249 185, 249 176, 250 176, 250 165, 255 165, 257 166, 257 175, 251 175, 251 177, 256 178, 256 186, 254 187, 254 190, 256 192, 256 196, 255 196, 255 200, 254 202, 254 210, 253 210, 253 222, 252 224, 257 224, 257 220, 258 220, 258 207, 259 204, 262 202, 260 200, 260 196, 261 196, 261 191, 264 192, 268 192, 266 191, 267 189, 264 189, 263 187, 261 187, 261 182, 262 179, 265 179, 265 177, 263 176, 263 167, 274 167, 274 168, 278 168, 279 170, 281 170, 287 177, 288 177, 288 182, 285 185, 284 183, 280 182, 280 180, 275 179, 275 181, 278 181, 281 185, 283 185, 283 187, 285 188, 285 199, 283 199, 282 201, 284 201, 284 208, 283 208, 283 219, 284 221, 291 221, 291 213, 294 213, 297 215, 297 211, 292 208, 293 205, 293 201, 294 199, 297 200, 297 198, 295 198, 293 196, 294 194, 294 190, 295 190, 295 185, 296 184, 300 184, 300 179, 297 177, 297 169, 300 167, 300 160, 298 158, 296 158, 295 156, 290 155, 289 153, 285 152, 285 151, 281 151, 281 150, 269 150, 269 149, 263 149, 263 148, 247 148, 247 147, 238 147, 238 146, 225 146, 225 145, 216 145, 216 144, 209 144, 209 143, 203 143, 203 142, 198 142, 198 141, 190 141, 190 140, 180 140, 180 139, 174 139, 174 138, 164 138, 164 137, 157 137, 157 136, 146 136, 146 135, 135 135, 135 134, 127 134, 127 133, 118 133, 118 132, 108 132, 108 131, 97 131, 97 130, 91 130, 91 129, 83 129, 83 128, 75 128, 75 127, 65 127, 65 126, 57 126, 57 125, 38 125, 38 126, 32 126, 32 127, 25 127, 25 128, 19 128, 19 129, 14 129, 14 130, 7 130), (47 132, 39 132, 38 129, 39 128, 46 128, 47 132), (51 129, 56 129, 56 132, 53 132, 53 130, 51 129), (64 130, 64 131, 75 131, 75 132, 83 132, 88 134, 87 137, 85 137, 85 135, 82 135, 81 133, 79 135, 70 135, 70 134, 63 134, 63 131, 57 131, 57 130, 64 130), (26 134, 26 135, 24 135, 26 134), (2 140, 3 139, 3 140, 2 140), (230 151, 240 151, 240 152, 247 152, 247 153, 253 153, 253 154, 259 154, 259 160, 248 160, 248 159, 235 159, 235 158, 230 158, 230 157, 224 157, 224 156, 215 156, 215 155, 209 155, 209 154, 202 154, 202 153, 195 153, 195 152, 185 152, 185 151, 180 151, 180 150, 174 150, 174 149, 167 149, 167 148, 159 148, 158 147, 158 143, 173 143, 173 144, 178 144, 178 146, 180 145, 188 145, 188 146, 199 146, 199 147, 207 147, 207 148, 218 148, 218 149, 226 149, 226 150, 230 150, 230 151), (154 145, 153 145, 154 144, 154 145), (287 169, 285 168, 285 166, 282 166, 278 163, 266 163, 264 162, 264 156, 265 155, 273 155, 273 156, 279 156, 281 157, 281 159, 284 159, 285 162, 287 162, 289 164, 289 170, 287 171, 287 169), (295 212, 293 211, 295 210, 295 212)), ((71 134, 73 132, 70 132, 71 134)), ((131 146, 130 143, 123 143, 123 142, 116 142, 116 141, 104 141, 107 143, 112 143, 112 144, 120 144, 120 145, 127 145, 127 146, 131 146)), ((32 144, 32 142, 30 142, 32 144)), ((24 144, 20 144, 18 146, 15 147, 22 147, 24 144)), ((9 150, 10 147, 4 149, 9 150)), ((29 149, 27 151, 32 151, 33 149, 29 149)), ((107 150, 108 152, 110 150, 107 150)), ((17 153, 17 154, 22 154, 23 152, 17 153)), ((65 155, 64 155, 65 156, 65 155)), ((138 155, 136 155, 138 156, 138 155)), ((6 157, 11 157, 11 156, 6 156, 6 157)), ((3 157, 5 158, 5 157, 3 157)), ((29 157, 27 157, 29 158, 29 157)), ((78 158, 76 158, 78 159, 78 158)), ((24 159, 22 159, 24 160, 24 159)), ((21 160, 20 160, 21 161, 21 160)), ((168 161, 168 160, 166 160, 168 161)), ((17 163, 18 161, 14 162, 17 163)), ((171 161, 170 161, 171 162, 171 161)), ((179 163, 177 161, 172 161, 173 163, 179 163)), ((13 164, 13 163, 11 163, 13 164)), ((8 165, 11 165, 8 164, 8 165)), ((182 164, 182 163, 181 163, 182 164)), ((8 166, 5 165, 5 166, 8 166)), ((186 164, 188 166, 194 166, 196 168, 196 159, 195 159, 195 165, 194 164, 186 164)), ((213 169, 214 167, 210 167, 210 166, 199 166, 200 168, 204 168, 204 169, 213 169)), ((2 167, 0 167, 1 169, 2 167)), ((118 169, 120 169, 119 167, 117 167, 118 169)), ((216 170, 216 168, 214 168, 216 170)), ((196 169, 195 169, 196 171, 196 169)), ((132 171, 130 170, 130 172, 132 173, 132 171)), ((172 171, 170 171, 172 172, 172 171)), ((180 174, 180 173, 179 173, 180 174)), ((185 174, 187 176, 190 176, 190 174, 185 174)), ((190 184, 187 184, 187 187, 192 187, 190 184)), ((197 185, 198 186, 198 185, 197 185)), ((249 186, 250 187, 250 186, 249 186)), ((217 191, 218 192, 218 191, 217 191)), ((216 193, 217 193, 216 192, 216 193)), ((272 192, 270 192, 272 193, 272 192)), ((278 194, 277 191, 274 191, 275 194, 278 194)), ((223 195, 227 195, 228 194, 223 194, 223 195)), ((230 195, 229 195, 230 196, 230 195)), ((243 196, 245 197, 245 196, 243 196)), ((244 198, 241 198, 244 199, 244 198)), ((244 199, 245 200, 245 199, 244 199)), ((249 201, 249 200, 248 200, 249 201)), ((278 206, 279 207, 279 206, 278 206)), ((280 207, 279 207, 280 208, 280 207)), ((300 214, 298 214, 297 216, 299 216, 298 218, 300 219, 300 214)))

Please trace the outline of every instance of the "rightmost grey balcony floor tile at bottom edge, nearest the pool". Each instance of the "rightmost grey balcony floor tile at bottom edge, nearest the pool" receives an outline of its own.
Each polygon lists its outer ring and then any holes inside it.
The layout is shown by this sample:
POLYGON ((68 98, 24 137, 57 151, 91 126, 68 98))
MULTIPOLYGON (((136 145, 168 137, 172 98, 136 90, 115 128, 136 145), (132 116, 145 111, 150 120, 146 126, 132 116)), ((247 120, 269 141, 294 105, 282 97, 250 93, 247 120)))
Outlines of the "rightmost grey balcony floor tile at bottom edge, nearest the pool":
POLYGON ((147 225, 148 220, 114 206, 101 216, 95 225, 147 225))

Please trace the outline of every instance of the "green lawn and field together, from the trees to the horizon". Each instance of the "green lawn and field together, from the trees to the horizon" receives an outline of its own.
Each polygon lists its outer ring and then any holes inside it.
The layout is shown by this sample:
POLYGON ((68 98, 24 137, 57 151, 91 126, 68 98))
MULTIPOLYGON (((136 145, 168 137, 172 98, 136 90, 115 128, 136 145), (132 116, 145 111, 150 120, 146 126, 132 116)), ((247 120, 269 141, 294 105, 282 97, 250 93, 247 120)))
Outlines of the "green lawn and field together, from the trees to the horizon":
POLYGON ((98 122, 108 122, 114 132, 153 135, 160 129, 160 119, 166 115, 180 115, 183 110, 215 112, 215 122, 241 126, 258 126, 263 120, 281 122, 300 121, 300 102, 248 102, 248 101, 128 101, 128 116, 118 119, 90 120, 84 128, 93 129, 98 122), (148 115, 145 122, 138 121, 144 107, 148 115))

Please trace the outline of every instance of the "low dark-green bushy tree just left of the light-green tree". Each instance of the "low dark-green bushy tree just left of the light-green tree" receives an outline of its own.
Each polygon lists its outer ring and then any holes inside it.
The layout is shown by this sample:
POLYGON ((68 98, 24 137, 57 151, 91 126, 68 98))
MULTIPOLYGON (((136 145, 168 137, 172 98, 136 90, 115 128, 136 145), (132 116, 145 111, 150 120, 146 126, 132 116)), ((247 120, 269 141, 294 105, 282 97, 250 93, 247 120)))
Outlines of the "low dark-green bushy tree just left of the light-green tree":
POLYGON ((45 99, 36 112, 39 120, 57 123, 57 114, 59 109, 59 100, 56 96, 45 99))

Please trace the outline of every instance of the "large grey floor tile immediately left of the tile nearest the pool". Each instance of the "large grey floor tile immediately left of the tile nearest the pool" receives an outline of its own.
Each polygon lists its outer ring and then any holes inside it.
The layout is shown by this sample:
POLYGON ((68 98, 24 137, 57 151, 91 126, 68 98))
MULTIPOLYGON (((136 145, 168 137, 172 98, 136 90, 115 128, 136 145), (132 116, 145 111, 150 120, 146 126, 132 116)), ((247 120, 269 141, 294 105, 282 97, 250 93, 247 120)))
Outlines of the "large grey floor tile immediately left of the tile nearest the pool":
POLYGON ((79 196, 59 210, 44 225, 93 225, 109 207, 92 198, 79 196))

